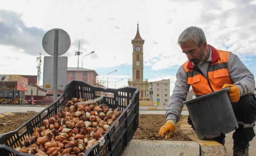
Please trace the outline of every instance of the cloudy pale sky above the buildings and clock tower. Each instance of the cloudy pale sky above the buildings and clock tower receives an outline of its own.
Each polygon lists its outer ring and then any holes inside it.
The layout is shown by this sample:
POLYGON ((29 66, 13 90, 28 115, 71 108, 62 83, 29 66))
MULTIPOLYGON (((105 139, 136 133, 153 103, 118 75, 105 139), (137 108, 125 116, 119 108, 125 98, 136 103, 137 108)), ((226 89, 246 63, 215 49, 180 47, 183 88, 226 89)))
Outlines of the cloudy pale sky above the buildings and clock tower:
MULTIPOLYGON (((238 55, 255 75, 256 0, 1 0, 0 74, 37 75, 44 34, 65 30, 71 39, 68 67, 94 69, 111 88, 132 79, 132 44, 137 23, 144 43, 144 79, 170 79, 187 60, 177 40, 189 26, 205 32, 207 43, 238 55), (123 80, 121 80, 123 79, 123 80), (121 80, 121 81, 119 81, 121 80), (119 81, 119 82, 116 82, 119 81)), ((43 71, 44 64, 41 66, 43 71)), ((43 75, 43 73, 42 73, 43 75)))

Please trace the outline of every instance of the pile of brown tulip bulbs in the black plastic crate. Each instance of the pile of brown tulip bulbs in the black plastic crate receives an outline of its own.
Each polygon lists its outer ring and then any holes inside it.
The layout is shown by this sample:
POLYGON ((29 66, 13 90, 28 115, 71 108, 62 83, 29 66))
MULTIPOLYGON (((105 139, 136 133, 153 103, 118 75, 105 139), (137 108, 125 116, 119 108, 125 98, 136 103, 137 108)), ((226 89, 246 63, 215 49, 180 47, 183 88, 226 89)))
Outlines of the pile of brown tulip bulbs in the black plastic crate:
MULTIPOLYGON (((65 109, 45 119, 44 126, 34 128, 32 136, 22 141, 21 148, 16 150, 37 156, 83 156, 120 115, 119 107, 112 109, 74 97, 67 102, 65 109)), ((117 121, 115 127, 118 124, 117 121)))

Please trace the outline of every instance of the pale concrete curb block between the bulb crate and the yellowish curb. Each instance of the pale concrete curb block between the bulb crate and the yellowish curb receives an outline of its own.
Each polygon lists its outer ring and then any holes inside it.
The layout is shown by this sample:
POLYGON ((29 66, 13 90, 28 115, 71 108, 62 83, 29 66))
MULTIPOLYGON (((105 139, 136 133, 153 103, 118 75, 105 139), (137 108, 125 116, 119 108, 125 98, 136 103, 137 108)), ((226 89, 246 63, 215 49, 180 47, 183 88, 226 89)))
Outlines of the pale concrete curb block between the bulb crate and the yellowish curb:
POLYGON ((199 156, 195 142, 131 140, 122 156, 199 156))

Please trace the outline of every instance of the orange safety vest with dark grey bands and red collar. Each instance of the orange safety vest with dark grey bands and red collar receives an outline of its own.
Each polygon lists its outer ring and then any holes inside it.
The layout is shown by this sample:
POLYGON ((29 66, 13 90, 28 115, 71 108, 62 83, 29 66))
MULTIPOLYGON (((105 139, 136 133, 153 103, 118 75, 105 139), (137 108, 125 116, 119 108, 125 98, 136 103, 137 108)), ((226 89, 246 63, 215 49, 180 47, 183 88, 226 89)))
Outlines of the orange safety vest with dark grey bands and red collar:
POLYGON ((207 70, 208 80, 189 60, 183 64, 187 74, 187 84, 192 85, 193 92, 197 96, 218 91, 224 84, 234 84, 228 75, 230 52, 217 50, 211 45, 208 46, 212 50, 212 60, 207 70))

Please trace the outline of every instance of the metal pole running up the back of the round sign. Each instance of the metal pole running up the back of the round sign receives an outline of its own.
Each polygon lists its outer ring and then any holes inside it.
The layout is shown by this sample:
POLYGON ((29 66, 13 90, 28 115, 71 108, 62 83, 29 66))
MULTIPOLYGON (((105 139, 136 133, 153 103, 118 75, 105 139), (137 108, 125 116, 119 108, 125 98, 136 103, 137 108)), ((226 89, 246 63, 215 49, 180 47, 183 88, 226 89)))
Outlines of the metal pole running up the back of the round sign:
POLYGON ((53 101, 57 100, 58 86, 58 45, 59 45, 59 30, 54 30, 54 53, 53 53, 53 101))

